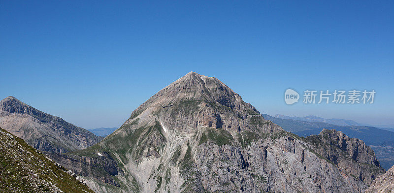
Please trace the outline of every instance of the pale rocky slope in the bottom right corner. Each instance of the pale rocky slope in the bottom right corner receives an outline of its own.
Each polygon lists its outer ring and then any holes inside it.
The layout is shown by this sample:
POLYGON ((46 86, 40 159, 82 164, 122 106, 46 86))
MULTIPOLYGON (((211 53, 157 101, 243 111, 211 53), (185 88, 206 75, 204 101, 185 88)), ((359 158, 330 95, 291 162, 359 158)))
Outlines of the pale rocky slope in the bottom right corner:
POLYGON ((394 166, 378 178, 365 191, 366 193, 394 193, 394 166))

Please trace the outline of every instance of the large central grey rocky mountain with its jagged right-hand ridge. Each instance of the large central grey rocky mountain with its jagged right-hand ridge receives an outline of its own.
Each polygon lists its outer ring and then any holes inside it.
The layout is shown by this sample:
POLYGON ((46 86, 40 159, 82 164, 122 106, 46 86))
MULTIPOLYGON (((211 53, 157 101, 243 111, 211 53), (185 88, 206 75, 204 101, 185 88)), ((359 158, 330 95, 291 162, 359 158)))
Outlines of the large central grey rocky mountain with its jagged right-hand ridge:
POLYGON ((51 157, 96 192, 363 192, 384 170, 362 141, 344 149, 332 132, 286 132, 218 79, 190 72, 98 144, 51 157))

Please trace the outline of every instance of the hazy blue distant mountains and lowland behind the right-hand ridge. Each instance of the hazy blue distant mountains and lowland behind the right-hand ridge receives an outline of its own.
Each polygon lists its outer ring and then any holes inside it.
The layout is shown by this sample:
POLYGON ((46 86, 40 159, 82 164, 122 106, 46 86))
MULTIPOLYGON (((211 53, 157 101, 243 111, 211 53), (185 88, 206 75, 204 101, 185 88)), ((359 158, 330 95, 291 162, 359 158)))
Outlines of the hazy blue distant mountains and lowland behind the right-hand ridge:
MULTIPOLYGON (((309 118, 299 118, 289 116, 269 116, 267 114, 263 114, 263 117, 267 120, 270 120, 279 126, 281 126, 286 131, 295 133, 299 136, 309 136, 313 134, 319 134, 322 129, 336 129, 344 132, 349 137, 355 137, 363 140, 365 144, 372 147, 375 151, 376 157, 380 161, 380 164, 385 169, 389 169, 394 165, 394 132, 385 129, 379 129, 375 127, 368 126, 343 126, 343 125, 334 125, 324 122, 318 122, 316 120, 322 120, 327 122, 327 119, 324 118, 316 118, 315 116, 307 116, 309 118), (283 117, 283 118, 278 118, 283 117), (307 120, 307 121, 303 121, 307 120), (313 120, 313 122, 312 122, 313 120)), ((341 119, 334 119, 341 120, 341 119)), ((334 121, 332 121, 334 122, 334 121)), ((352 123, 349 120, 341 120, 336 121, 334 123, 352 123)))

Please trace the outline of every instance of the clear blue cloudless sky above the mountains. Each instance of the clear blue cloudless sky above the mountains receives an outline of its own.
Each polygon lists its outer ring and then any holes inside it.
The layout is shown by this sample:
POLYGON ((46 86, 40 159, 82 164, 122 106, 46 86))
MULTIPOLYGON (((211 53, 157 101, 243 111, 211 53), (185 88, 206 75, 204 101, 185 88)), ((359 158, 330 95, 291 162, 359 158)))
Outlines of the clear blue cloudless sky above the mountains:
POLYGON ((394 124, 393 10, 393 0, 0 0, 0 97, 118 127, 195 71, 261 113, 394 124), (377 94, 371 105, 289 106, 287 88, 377 94))

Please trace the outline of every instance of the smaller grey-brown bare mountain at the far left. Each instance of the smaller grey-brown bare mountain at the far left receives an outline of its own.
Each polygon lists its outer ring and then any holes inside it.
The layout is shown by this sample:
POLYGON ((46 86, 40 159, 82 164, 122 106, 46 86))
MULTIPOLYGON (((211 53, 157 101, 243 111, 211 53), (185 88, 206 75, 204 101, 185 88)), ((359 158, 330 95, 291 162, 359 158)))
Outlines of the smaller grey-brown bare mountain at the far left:
POLYGON ((35 149, 47 152, 81 150, 101 140, 92 132, 41 112, 13 96, 0 101, 0 127, 35 149))

